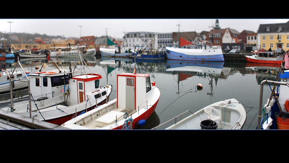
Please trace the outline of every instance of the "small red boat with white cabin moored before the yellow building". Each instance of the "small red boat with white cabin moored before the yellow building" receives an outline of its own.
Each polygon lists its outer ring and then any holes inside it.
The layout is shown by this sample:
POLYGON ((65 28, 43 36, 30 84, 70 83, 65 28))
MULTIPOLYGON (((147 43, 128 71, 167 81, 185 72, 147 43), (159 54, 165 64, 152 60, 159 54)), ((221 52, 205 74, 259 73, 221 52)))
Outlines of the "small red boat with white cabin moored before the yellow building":
POLYGON ((251 53, 251 56, 245 55, 247 62, 281 64, 283 60, 283 55, 276 55, 272 52, 258 52, 255 50, 251 53))

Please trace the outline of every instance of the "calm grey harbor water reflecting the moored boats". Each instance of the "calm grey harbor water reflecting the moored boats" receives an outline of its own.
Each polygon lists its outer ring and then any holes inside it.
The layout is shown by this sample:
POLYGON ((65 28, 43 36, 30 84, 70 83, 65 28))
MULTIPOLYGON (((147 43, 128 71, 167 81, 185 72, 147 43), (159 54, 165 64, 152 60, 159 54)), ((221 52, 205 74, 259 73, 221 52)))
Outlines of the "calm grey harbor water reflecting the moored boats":
MULTIPOLYGON (((76 58, 55 60, 59 68, 70 69, 76 58)), ((17 59, 2 61, 6 69, 13 69, 17 59)), ((155 113, 139 129, 151 129, 187 110, 192 113, 212 103, 235 98, 245 108, 247 119, 242 129, 256 129, 259 107, 260 83, 264 79, 275 80, 280 65, 255 65, 246 62, 194 62, 172 60, 135 60, 128 58, 84 58, 88 67, 86 73, 102 76, 101 85, 113 85, 110 100, 116 98, 116 75, 124 71, 151 74, 151 81, 160 89, 160 99, 155 113), (197 85, 203 89, 198 90, 197 85)), ((22 60, 24 71, 38 72, 45 58, 22 60)), ((51 62, 45 61, 45 71, 56 69, 51 62)), ((73 68, 73 67, 72 67, 73 68)), ((17 69, 20 69, 18 67, 17 69)), ((43 69, 42 69, 43 71, 43 69)), ((273 86, 271 86, 273 87, 273 86)), ((275 90, 276 91, 276 90, 275 90)), ((264 85, 263 104, 271 95, 270 86, 264 85)), ((187 112, 182 119, 189 116, 187 112)), ((177 119, 179 120, 179 119, 177 119)), ((165 129, 173 120, 157 129, 165 129)))

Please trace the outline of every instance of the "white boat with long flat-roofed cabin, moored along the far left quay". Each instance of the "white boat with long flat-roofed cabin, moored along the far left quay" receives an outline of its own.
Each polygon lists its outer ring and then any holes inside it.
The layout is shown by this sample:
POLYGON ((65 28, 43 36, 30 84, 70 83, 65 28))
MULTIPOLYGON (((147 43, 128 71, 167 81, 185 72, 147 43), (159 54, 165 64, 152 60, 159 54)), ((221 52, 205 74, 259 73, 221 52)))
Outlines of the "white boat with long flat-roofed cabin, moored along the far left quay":
MULTIPOLYGON (((85 46, 79 46, 79 48, 84 48, 85 46)), ((76 46, 67 46, 67 47, 50 47, 55 48, 56 51, 52 51, 49 54, 49 57, 75 57, 78 55, 78 50, 76 46)), ((81 49, 80 55, 82 57, 89 57, 89 56, 95 56, 96 50, 95 49, 81 49)))

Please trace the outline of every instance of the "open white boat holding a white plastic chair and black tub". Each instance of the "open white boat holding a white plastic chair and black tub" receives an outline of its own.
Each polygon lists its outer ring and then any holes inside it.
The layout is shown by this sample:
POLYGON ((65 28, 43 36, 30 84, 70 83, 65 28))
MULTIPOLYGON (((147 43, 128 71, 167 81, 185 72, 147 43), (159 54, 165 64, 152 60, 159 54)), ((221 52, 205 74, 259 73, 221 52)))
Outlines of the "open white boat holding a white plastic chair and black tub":
MULTIPOLYGON (((189 112, 189 111, 186 111, 189 112)), ((185 113, 186 113, 185 112, 185 113)), ((182 113, 180 116, 183 116, 182 113)), ((177 117, 180 117, 177 116, 177 117)), ((176 118, 171 120, 176 120, 176 118)), ((169 121, 171 121, 169 120, 169 121)), ((169 121, 163 123, 166 124, 169 121)), ((197 130, 197 129, 242 129, 246 121, 246 111, 236 99, 228 99, 211 104, 192 115, 179 120, 166 129, 197 130)), ((157 129, 163 124, 154 127, 157 129)))

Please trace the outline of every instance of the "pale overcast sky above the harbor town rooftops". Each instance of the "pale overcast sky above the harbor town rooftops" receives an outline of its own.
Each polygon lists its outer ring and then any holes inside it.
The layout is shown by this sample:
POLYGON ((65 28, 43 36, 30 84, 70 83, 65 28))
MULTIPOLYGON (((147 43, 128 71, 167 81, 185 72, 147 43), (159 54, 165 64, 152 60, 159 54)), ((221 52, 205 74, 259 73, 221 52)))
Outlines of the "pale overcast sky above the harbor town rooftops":
MULTIPOLYGON (((216 19, 0 19, 0 31, 39 33, 52 36, 108 36, 122 38, 125 32, 210 31, 216 19), (81 26, 81 27, 79 27, 81 26)), ((219 19, 219 26, 238 32, 257 32, 260 24, 286 23, 289 19, 219 19)))

